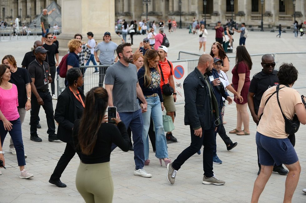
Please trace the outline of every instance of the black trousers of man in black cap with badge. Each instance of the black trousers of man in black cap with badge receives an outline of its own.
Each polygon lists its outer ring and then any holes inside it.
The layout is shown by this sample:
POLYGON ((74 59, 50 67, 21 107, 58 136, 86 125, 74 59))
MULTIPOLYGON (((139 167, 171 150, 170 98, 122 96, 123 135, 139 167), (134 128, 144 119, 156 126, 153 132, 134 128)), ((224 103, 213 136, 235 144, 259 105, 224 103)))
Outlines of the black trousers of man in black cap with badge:
MULTIPOLYGON (((50 95, 50 92, 41 92, 37 91, 39 96, 43 99, 43 109, 46 113, 47 118, 47 125, 48 125, 48 135, 53 136, 55 134, 55 123, 54 123, 54 111, 53 111, 53 104, 52 104, 52 97, 50 95)), ((30 127, 30 134, 31 136, 37 135, 37 118, 38 113, 40 109, 40 105, 37 102, 37 98, 32 93, 31 97, 31 108, 32 108, 32 114, 30 118, 31 127, 30 127)))

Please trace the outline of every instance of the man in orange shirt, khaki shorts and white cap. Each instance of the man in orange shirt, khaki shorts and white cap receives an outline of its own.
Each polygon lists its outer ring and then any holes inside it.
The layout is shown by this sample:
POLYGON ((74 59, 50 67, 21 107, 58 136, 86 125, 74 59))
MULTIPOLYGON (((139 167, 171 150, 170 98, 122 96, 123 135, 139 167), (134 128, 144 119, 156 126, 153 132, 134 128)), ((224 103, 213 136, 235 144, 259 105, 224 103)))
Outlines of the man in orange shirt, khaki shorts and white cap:
MULTIPOLYGON (((175 85, 174 85, 174 80, 173 80, 173 64, 166 59, 166 55, 168 53, 167 47, 159 46, 157 51, 161 55, 161 59, 158 62, 158 67, 160 68, 160 70, 162 70, 162 73, 165 79, 165 81, 163 81, 161 78, 161 93, 162 93, 163 100, 164 100, 164 106, 167 111, 167 115, 172 117, 172 121, 174 123, 174 114, 176 111, 174 102, 176 102, 176 91, 175 91, 175 85), (169 83, 170 86, 173 88, 174 90, 173 95, 166 96, 163 94, 162 87, 164 84, 167 84, 167 83, 169 83)), ((177 139, 172 135, 172 132, 166 133, 166 140, 177 142, 177 139)))

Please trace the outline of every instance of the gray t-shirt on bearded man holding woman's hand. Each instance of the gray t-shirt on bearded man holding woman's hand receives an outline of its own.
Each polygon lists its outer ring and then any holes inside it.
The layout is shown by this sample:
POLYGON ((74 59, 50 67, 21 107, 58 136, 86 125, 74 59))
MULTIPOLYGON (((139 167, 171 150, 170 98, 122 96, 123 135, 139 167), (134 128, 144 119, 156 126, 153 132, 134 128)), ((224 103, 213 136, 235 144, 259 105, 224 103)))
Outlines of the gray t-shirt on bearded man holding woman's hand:
POLYGON ((134 64, 129 63, 129 67, 126 67, 120 61, 114 63, 106 69, 104 82, 106 85, 114 85, 113 104, 118 113, 140 109, 136 96, 137 68, 134 64))

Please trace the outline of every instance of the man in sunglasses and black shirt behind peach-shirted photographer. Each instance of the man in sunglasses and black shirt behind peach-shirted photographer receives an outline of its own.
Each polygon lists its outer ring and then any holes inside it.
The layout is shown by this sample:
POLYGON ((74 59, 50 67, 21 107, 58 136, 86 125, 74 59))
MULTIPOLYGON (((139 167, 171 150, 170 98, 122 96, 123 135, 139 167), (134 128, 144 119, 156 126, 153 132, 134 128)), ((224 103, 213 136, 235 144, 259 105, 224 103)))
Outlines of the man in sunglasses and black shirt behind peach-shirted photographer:
MULTIPOLYGON (((249 92, 247 94, 247 104, 249 106, 253 121, 258 125, 258 109, 260 105, 261 98, 263 97, 263 93, 270 87, 274 85, 278 85, 278 71, 274 70, 275 62, 274 58, 270 54, 265 54, 261 58, 261 65, 263 70, 259 73, 256 73, 249 87, 249 92)), ((288 137, 289 138, 289 137, 288 137)), ((291 139, 290 139, 291 141, 291 139)), ((292 143, 292 142, 291 142, 292 143)), ((292 143, 293 144, 293 143, 292 143)), ((294 144, 293 144, 294 146, 294 144)), ((258 156, 258 151, 257 151, 258 156)), ((258 173, 260 173, 261 165, 258 159, 258 173)), ((288 171, 284 169, 283 165, 273 167, 273 172, 278 172, 280 175, 287 175, 288 171)))

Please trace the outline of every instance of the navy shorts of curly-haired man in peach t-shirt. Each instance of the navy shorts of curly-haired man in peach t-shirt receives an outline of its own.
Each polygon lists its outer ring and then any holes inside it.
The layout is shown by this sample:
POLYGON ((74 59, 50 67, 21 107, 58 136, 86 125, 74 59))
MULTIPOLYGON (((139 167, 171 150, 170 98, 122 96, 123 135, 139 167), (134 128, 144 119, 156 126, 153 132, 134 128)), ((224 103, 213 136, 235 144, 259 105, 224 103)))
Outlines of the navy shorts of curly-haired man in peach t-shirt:
POLYGON ((298 161, 298 156, 288 138, 277 139, 256 132, 256 144, 259 163, 264 166, 277 166, 293 164, 298 161))

